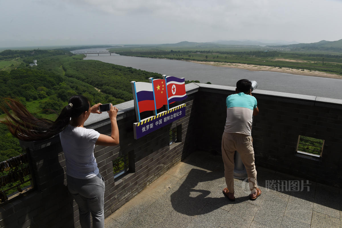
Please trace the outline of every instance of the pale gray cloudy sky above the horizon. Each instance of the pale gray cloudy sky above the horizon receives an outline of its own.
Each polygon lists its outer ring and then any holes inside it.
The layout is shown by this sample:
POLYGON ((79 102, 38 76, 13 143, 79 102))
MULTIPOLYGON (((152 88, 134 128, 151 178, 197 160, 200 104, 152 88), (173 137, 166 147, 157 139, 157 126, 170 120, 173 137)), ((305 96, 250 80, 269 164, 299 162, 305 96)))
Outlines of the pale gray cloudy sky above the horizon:
POLYGON ((0 0, 0 47, 342 39, 342 0, 0 0))

